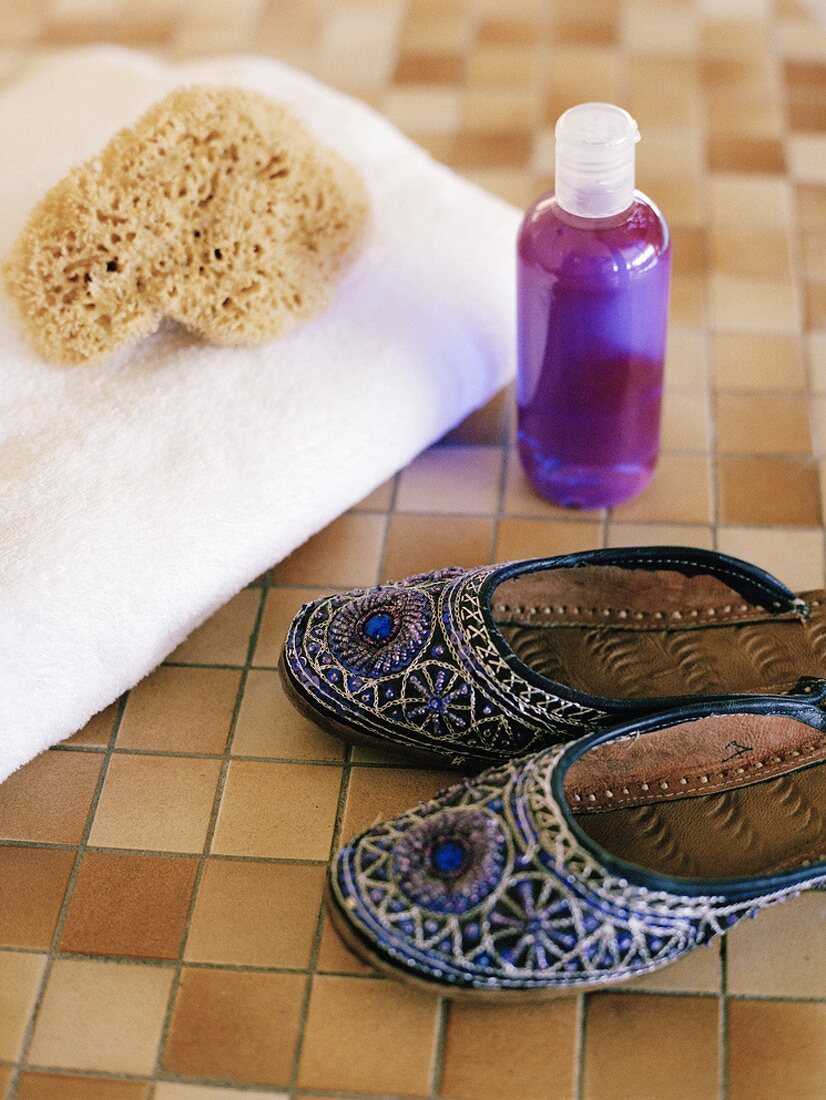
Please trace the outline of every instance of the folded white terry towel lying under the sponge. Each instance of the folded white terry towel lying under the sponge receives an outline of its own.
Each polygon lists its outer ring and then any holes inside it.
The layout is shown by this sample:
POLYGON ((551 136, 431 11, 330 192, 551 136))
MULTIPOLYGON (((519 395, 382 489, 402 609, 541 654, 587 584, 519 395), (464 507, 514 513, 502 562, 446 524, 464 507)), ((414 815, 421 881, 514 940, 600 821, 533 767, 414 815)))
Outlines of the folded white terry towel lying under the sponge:
POLYGON ((169 330, 55 367, 0 296, 0 780, 511 374, 517 212, 272 61, 106 47, 30 70, 0 96, 0 254, 71 165, 194 82, 291 105, 363 173, 372 227, 330 308, 250 350, 169 330))

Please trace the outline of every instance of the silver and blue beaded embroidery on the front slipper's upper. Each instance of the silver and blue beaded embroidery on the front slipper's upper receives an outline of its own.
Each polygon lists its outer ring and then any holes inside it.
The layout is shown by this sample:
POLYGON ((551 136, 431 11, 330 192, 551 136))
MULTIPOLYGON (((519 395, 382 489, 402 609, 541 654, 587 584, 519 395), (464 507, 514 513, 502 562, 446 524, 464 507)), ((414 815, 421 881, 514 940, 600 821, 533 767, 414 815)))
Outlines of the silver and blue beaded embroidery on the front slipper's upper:
POLYGON ((659 969, 744 916, 826 882, 821 872, 736 903, 629 884, 580 847, 561 815, 551 776, 562 752, 465 780, 348 845, 332 886, 361 936, 431 980, 575 989, 659 969), (445 843, 473 853, 453 879, 433 862, 445 843))

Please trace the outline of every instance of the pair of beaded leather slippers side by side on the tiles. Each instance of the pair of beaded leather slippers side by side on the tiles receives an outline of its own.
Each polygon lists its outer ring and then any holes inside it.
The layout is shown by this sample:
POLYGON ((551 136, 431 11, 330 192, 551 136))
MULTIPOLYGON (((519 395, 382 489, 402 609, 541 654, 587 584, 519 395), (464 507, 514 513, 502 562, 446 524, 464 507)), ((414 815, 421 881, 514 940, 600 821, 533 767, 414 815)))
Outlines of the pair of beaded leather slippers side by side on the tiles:
POLYGON ((306 605, 280 669, 348 740, 487 769, 331 865, 387 974, 602 989, 826 884, 824 592, 675 547, 448 569, 306 605))

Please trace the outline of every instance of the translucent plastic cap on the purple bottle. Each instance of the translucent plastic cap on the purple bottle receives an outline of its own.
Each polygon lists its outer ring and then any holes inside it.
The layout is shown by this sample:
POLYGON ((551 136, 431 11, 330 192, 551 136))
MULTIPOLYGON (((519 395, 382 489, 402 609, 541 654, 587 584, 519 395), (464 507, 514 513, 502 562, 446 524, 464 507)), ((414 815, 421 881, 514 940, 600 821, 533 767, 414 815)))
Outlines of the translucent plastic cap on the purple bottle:
POLYGON ((637 123, 613 103, 580 103, 557 122, 554 195, 569 213, 610 218, 634 202, 637 123))

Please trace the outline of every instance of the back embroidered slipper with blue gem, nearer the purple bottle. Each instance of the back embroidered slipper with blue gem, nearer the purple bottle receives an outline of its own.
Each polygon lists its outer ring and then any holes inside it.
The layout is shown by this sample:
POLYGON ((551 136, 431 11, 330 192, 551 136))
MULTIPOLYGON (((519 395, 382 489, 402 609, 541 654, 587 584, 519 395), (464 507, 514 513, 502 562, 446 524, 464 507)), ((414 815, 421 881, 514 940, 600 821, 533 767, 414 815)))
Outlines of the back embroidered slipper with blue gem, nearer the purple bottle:
POLYGON ((680 547, 452 568, 305 605, 279 667, 331 733, 484 766, 704 698, 826 697, 826 598, 680 547))

